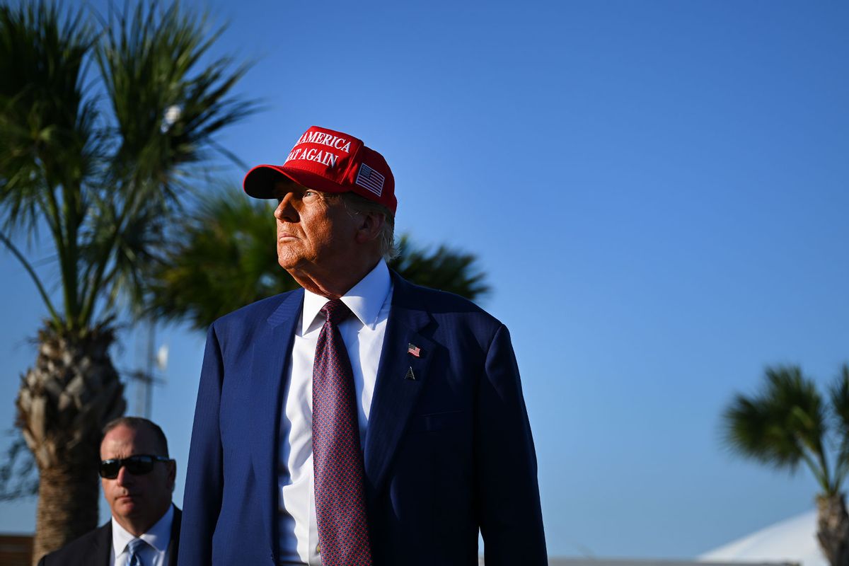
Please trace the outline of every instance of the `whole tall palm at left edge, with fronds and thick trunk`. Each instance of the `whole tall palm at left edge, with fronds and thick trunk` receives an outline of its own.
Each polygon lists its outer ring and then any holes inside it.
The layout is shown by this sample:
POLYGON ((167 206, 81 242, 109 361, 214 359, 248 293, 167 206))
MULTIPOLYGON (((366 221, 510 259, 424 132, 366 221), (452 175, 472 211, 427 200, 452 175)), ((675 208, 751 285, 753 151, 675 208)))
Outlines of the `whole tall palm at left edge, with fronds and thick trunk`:
POLYGON ((36 560, 97 524, 100 430, 125 408, 115 317, 143 295, 183 179, 254 108, 230 95, 245 66, 200 66, 222 29, 194 14, 139 3, 93 24, 48 1, 0 6, 0 242, 48 313, 16 401, 40 476, 36 560), (58 292, 24 233, 49 243, 58 292))

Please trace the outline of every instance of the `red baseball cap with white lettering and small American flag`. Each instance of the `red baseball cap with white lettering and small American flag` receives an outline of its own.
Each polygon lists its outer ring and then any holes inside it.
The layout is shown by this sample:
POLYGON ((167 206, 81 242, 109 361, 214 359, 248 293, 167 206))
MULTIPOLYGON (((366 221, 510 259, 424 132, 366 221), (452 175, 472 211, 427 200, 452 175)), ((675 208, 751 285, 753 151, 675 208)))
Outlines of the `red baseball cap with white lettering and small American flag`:
POLYGON ((324 193, 347 193, 384 205, 395 214, 395 177, 383 155, 343 132, 312 126, 283 165, 256 165, 242 182, 255 199, 273 199, 280 176, 324 193))

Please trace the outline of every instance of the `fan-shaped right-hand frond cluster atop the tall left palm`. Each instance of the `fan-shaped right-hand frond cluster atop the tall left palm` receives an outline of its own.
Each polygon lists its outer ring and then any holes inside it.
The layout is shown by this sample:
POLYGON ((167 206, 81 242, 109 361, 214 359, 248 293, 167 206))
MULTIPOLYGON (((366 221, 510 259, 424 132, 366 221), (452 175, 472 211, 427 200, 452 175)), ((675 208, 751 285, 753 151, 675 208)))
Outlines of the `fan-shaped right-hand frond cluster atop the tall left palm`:
POLYGON ((201 33, 205 21, 177 4, 160 11, 156 3, 139 3, 132 17, 111 18, 97 51, 121 140, 115 175, 139 192, 157 187, 155 196, 171 204, 191 188, 182 182, 192 178, 190 165, 211 158, 215 135, 256 109, 231 96, 249 65, 220 58, 200 67, 224 31, 201 33))

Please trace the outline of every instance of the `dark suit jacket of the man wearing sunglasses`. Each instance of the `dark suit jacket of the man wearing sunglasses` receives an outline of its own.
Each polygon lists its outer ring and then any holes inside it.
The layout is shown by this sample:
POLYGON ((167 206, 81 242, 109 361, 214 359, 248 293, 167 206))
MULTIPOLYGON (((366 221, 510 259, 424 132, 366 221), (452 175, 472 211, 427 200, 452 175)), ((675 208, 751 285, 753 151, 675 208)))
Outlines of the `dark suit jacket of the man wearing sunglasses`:
MULTIPOLYGON (((174 507, 174 522, 171 523, 171 541, 168 542, 168 566, 177 565, 177 548, 180 544, 182 513, 174 507)), ((70 541, 58 551, 45 554, 38 566, 109 566, 112 554, 112 520, 102 527, 70 541)))

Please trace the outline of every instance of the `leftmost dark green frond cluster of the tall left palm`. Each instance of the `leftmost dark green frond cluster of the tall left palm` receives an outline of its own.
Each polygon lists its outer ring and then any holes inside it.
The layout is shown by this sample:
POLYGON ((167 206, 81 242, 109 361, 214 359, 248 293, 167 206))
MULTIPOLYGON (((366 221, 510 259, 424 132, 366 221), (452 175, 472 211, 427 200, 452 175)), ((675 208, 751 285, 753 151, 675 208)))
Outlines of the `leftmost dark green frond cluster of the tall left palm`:
MULTIPOLYGON (((82 92, 94 42, 82 11, 45 2, 0 7, 0 214, 10 235, 45 221, 59 257, 65 320, 79 306, 82 188, 95 165, 97 109, 82 92)), ((48 305, 49 306, 49 305, 48 305)), ((53 316, 53 324, 62 321, 53 316)))

